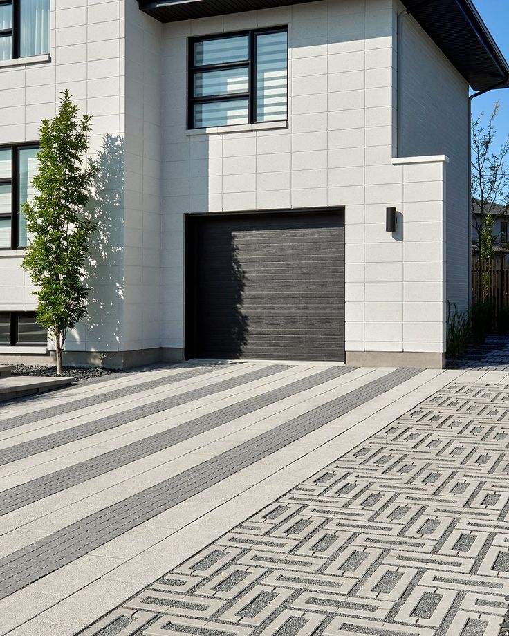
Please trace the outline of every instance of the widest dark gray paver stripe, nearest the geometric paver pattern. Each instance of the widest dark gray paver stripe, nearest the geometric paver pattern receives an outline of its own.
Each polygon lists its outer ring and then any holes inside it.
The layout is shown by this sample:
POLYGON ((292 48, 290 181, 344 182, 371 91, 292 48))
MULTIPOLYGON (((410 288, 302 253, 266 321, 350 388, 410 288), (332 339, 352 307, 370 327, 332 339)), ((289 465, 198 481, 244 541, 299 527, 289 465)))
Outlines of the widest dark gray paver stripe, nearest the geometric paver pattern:
POLYGON ((397 369, 0 559, 0 598, 55 572, 420 373, 397 369))

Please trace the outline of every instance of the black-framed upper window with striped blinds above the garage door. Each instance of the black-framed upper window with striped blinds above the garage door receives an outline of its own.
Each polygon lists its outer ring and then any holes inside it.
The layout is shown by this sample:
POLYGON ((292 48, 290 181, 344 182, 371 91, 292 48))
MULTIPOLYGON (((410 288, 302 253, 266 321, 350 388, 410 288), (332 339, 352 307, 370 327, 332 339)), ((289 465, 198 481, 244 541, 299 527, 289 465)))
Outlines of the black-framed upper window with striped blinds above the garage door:
POLYGON ((287 113, 287 28, 190 41, 189 128, 275 122, 287 113))

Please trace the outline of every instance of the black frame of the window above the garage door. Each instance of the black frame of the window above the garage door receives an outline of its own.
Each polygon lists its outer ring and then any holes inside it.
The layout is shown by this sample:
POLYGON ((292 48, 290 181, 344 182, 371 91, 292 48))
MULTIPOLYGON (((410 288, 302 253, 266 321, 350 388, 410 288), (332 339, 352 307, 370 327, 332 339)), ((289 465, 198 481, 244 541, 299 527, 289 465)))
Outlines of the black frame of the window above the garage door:
MULTIPOLYGON (((234 100, 248 100, 248 122, 247 124, 225 124, 227 126, 246 126, 257 124, 257 36, 270 35, 271 33, 286 33, 286 68, 288 70, 288 25, 275 26, 270 28, 250 29, 244 31, 233 31, 221 33, 220 35, 201 35, 190 37, 187 47, 187 129, 200 130, 194 125, 195 104, 207 104, 214 101, 226 102, 234 100), (248 59, 240 62, 225 62, 224 64, 194 64, 194 45, 198 42, 230 39, 231 37, 248 36, 249 49, 248 59), (196 73, 207 73, 207 71, 223 71, 227 68, 247 68, 248 69, 248 92, 247 93, 221 93, 219 95, 194 96, 194 75, 196 73)), ((270 120, 270 122, 288 121, 288 78, 286 85, 286 117, 280 120, 270 120)))

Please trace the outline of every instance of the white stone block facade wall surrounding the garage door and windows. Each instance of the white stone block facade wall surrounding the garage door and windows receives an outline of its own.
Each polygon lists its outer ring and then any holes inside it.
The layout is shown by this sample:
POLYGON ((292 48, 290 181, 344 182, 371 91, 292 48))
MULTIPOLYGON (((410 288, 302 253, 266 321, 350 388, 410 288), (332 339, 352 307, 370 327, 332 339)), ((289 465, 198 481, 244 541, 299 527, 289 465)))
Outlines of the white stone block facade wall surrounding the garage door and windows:
MULTIPOLYGON (((445 135, 439 143, 440 127, 432 147, 405 133, 420 113, 408 100, 398 113, 397 0, 322 0, 164 25, 136 0, 69 4, 52 0, 50 62, 0 64, 0 144, 35 140, 64 88, 94 115, 104 231, 91 315, 69 335, 69 350, 182 351, 186 213, 344 205, 346 350, 443 352, 454 271, 445 268, 445 220, 467 232, 455 204, 463 138, 459 124, 457 147, 445 135), (187 131, 188 37, 286 24, 288 126, 187 131), (407 160, 397 158, 398 132, 408 135, 407 160), (398 209, 394 235, 385 232, 389 206, 398 209)), ((426 77, 443 86, 456 73, 425 34, 405 37, 429 53, 426 77)), ((457 79, 448 108, 466 109, 457 79)), ((463 238, 454 241, 456 253, 463 238)), ((20 262, 0 252, 0 311, 35 307, 20 262)))

